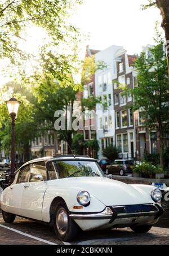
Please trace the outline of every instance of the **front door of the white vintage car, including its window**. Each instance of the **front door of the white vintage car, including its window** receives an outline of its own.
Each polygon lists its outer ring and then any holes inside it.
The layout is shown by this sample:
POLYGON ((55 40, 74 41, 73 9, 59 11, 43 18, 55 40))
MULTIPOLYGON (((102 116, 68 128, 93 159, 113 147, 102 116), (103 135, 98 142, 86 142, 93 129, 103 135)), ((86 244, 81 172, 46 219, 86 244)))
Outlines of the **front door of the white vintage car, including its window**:
POLYGON ((47 189, 46 180, 45 162, 32 163, 29 182, 24 187, 21 200, 21 216, 42 220, 43 197, 47 189))

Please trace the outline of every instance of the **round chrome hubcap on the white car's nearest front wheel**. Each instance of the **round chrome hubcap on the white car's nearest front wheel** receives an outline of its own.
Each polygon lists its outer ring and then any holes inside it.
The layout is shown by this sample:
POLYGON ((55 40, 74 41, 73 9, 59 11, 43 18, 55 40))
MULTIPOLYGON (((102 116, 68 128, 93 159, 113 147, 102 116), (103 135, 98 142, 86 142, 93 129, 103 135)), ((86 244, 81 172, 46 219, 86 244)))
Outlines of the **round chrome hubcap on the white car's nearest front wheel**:
POLYGON ((56 214, 56 227, 60 235, 65 235, 68 230, 68 214, 64 208, 60 208, 56 214))

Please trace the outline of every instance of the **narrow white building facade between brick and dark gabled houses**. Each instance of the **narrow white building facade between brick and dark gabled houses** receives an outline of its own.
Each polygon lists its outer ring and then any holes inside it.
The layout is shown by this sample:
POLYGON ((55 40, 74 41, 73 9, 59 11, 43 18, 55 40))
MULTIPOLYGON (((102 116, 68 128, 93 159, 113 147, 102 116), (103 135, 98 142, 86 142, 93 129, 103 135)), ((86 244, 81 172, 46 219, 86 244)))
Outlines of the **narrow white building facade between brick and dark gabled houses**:
POLYGON ((106 64, 104 70, 95 72, 95 94, 101 97, 101 103, 96 105, 96 136, 99 141, 99 159, 103 157, 102 150, 107 146, 115 145, 115 116, 113 100, 112 80, 115 74, 115 53, 122 46, 112 45, 109 48, 95 54, 95 62, 100 61, 106 64))

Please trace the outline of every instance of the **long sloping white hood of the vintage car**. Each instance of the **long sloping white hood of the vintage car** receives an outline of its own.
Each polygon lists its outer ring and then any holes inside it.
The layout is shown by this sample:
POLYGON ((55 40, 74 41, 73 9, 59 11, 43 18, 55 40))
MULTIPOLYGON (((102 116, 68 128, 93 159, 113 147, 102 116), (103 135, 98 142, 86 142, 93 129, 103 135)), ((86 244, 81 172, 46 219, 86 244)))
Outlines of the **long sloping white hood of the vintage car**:
POLYGON ((106 177, 70 177, 57 181, 61 186, 72 188, 72 191, 87 190, 106 206, 152 203, 150 194, 144 190, 106 177))

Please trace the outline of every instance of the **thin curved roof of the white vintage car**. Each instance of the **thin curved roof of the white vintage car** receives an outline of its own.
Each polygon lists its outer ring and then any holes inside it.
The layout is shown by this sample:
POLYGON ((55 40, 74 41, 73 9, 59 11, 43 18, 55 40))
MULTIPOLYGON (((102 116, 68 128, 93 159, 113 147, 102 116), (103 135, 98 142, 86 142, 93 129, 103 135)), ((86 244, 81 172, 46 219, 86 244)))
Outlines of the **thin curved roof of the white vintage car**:
MULTIPOLYGON (((51 157, 42 157, 42 158, 35 158, 35 159, 32 159, 26 163, 24 163, 20 168, 26 166, 27 164, 31 164, 31 163, 35 163, 35 162, 41 162, 41 161, 45 161, 45 162, 50 162, 52 160, 71 160, 71 159, 74 159, 74 160, 78 160, 78 159, 86 159, 86 160, 94 160, 94 161, 97 161, 96 159, 94 158, 90 158, 88 155, 54 155, 54 156, 51 156, 51 157)), ((20 170, 17 169, 15 171, 15 173, 17 171, 20 170)))

